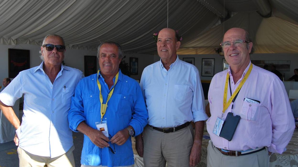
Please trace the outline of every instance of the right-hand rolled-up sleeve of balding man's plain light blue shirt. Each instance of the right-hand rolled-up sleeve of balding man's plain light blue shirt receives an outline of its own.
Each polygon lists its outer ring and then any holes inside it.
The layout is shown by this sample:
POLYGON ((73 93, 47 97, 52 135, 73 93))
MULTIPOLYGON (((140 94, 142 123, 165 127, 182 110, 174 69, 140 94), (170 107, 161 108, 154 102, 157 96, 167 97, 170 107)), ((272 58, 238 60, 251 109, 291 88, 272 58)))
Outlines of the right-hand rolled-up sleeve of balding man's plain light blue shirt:
POLYGON ((207 120, 208 116, 205 112, 205 104, 204 104, 204 93, 203 88, 199 76, 198 70, 196 70, 194 76, 193 76, 193 102, 191 105, 191 110, 193 113, 193 122, 201 121, 201 120, 207 120))

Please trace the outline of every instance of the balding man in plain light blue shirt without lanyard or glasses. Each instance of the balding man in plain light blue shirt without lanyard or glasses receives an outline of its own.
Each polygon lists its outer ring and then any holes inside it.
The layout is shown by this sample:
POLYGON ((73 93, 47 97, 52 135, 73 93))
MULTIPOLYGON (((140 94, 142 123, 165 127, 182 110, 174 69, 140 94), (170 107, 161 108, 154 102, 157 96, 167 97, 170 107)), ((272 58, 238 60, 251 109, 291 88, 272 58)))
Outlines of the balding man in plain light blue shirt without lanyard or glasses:
POLYGON ((204 95, 198 69, 179 60, 180 37, 162 29, 157 38, 160 61, 146 67, 140 86, 148 126, 136 137, 136 150, 148 166, 195 166, 201 157, 204 95), (195 122, 195 134, 190 124, 195 122), (143 143, 143 140, 144 143, 143 143))

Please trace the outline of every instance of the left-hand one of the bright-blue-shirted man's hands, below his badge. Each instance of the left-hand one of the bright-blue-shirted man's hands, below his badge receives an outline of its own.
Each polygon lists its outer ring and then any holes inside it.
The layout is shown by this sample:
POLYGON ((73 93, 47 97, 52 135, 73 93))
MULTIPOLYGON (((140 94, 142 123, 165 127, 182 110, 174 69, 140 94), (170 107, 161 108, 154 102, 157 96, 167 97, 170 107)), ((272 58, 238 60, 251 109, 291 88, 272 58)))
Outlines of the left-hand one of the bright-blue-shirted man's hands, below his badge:
POLYGON ((90 140, 92 141, 92 143, 94 143, 96 146, 98 146, 99 148, 104 148, 104 147, 108 147, 110 146, 107 141, 110 141, 108 137, 106 137, 103 132, 97 130, 97 129, 93 129, 91 130, 91 132, 88 132, 87 135, 90 140))

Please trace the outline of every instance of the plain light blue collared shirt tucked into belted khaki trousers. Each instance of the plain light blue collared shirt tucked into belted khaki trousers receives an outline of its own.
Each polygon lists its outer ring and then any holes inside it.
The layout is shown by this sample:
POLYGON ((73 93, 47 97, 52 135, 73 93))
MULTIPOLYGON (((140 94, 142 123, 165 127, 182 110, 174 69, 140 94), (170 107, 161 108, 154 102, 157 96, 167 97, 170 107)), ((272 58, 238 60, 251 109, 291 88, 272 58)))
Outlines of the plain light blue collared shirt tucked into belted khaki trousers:
POLYGON ((198 69, 178 56, 167 71, 158 61, 146 67, 140 86, 148 110, 148 124, 176 127, 208 119, 198 69))

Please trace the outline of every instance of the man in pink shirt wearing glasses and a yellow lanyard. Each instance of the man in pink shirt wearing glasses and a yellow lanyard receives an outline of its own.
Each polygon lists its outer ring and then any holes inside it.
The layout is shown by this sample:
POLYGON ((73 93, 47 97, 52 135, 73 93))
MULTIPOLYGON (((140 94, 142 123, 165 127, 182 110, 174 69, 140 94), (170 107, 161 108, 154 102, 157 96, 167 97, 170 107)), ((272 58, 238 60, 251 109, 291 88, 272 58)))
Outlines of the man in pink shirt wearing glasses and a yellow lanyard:
POLYGON ((271 153, 283 153, 295 124, 280 79, 250 62, 252 40, 232 28, 221 46, 229 69, 211 81, 207 166, 265 167, 271 153))

